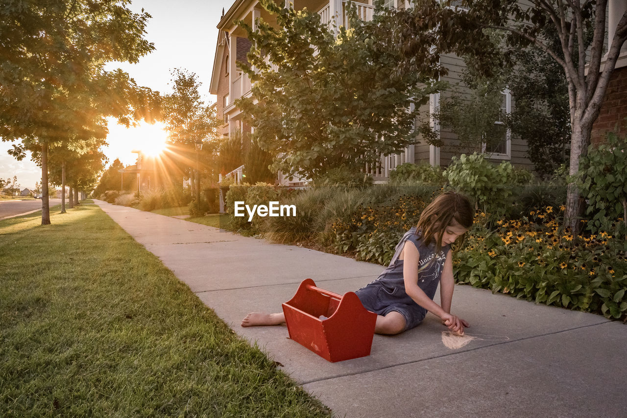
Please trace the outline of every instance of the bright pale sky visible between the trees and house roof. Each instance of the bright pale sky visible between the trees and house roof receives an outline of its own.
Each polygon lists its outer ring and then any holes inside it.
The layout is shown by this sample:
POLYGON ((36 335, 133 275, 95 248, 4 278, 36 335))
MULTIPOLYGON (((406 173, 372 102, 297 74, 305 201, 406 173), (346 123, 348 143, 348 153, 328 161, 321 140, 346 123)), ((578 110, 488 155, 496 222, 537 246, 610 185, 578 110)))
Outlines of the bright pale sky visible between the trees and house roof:
MULTIPOLYGON (((215 102, 215 97, 209 94, 209 84, 218 39, 216 26, 222 9, 228 10, 233 3, 234 0, 132 0, 129 6, 132 11, 139 13, 143 8, 152 16, 145 38, 154 43, 155 50, 137 64, 110 63, 106 68, 122 68, 138 85, 162 93, 171 91, 171 70, 184 68, 198 75, 205 103, 215 102)), ((115 158, 120 158, 124 164, 134 164, 137 154, 131 152, 133 149, 147 142, 162 142, 165 137, 166 132, 159 124, 142 123, 126 129, 115 119, 110 120, 109 146, 103 149, 108 158, 107 166, 115 158)), ((11 149, 11 142, 0 142, 0 178, 17 176, 22 189, 34 188, 35 182, 41 183, 41 169, 30 160, 30 155, 16 161, 7 153, 8 149, 11 149)))

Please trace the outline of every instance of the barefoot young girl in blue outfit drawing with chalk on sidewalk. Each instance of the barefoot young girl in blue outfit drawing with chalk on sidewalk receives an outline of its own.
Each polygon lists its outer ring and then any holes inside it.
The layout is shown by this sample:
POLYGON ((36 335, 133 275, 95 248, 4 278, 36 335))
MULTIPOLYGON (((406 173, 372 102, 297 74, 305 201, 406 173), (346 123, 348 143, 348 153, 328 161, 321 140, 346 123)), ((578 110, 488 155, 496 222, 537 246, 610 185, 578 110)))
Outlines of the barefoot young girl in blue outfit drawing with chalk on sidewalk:
MULTIPOLYGON (((463 238, 473 223, 472 205, 465 196, 448 191, 424 208, 418 225, 403 235, 389 266, 355 293, 364 308, 377 314, 374 332, 398 334, 422 322, 427 311, 463 335, 468 323, 451 314, 453 260, 451 244, 463 238), (433 301, 440 283, 441 305, 433 301)), ((253 312, 241 326, 285 323, 283 313, 253 312)))

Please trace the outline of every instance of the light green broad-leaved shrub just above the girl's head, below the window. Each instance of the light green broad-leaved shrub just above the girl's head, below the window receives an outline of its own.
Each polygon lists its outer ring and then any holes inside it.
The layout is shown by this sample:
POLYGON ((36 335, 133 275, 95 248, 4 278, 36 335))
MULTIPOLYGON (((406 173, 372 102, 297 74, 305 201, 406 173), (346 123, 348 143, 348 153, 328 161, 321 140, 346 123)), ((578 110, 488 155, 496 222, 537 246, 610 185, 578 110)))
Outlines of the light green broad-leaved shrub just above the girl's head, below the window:
POLYGON ((472 198, 475 207, 483 212, 503 212, 507 197, 512 194, 512 164, 503 161, 495 166, 483 154, 453 157, 444 176, 453 189, 472 198))

